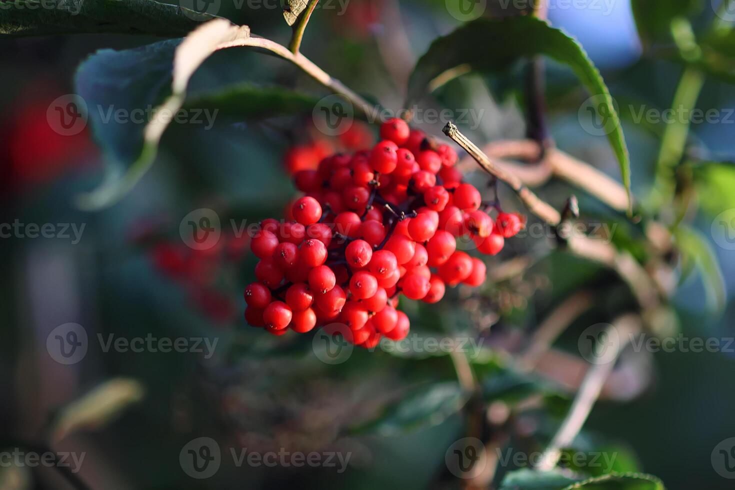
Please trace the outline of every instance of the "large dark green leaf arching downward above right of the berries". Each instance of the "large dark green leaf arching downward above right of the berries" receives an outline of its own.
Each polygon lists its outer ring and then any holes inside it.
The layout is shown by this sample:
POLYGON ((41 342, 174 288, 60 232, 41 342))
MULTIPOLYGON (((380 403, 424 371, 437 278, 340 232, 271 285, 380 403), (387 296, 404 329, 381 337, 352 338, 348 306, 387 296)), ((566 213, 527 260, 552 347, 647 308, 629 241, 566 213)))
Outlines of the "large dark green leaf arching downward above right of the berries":
MULTIPOLYGON (((432 81, 438 76, 460 65, 469 65, 476 71, 501 71, 520 58, 537 54, 567 65, 592 94, 592 105, 600 118, 606 120, 607 137, 620 163, 620 174, 628 192, 628 209, 632 209, 628 148, 609 90, 579 43, 545 21, 532 16, 479 18, 434 40, 429 51, 418 60, 409 79, 409 104, 420 98, 427 87, 434 87, 436 83, 432 84, 432 81)), ((447 79, 445 76, 442 78, 447 79)))

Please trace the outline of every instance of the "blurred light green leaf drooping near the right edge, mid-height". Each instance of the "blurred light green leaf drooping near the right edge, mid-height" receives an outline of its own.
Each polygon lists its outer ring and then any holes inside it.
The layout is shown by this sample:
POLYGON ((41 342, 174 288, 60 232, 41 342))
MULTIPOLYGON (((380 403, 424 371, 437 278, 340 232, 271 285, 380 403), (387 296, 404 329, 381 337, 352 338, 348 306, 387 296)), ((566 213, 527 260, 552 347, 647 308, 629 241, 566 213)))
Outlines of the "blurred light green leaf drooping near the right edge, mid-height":
POLYGON ((709 308, 713 311, 722 311, 725 307, 725 279, 711 244, 699 231, 685 225, 676 228, 674 237, 681 251, 684 268, 686 269, 689 263, 694 264, 700 271, 709 308))

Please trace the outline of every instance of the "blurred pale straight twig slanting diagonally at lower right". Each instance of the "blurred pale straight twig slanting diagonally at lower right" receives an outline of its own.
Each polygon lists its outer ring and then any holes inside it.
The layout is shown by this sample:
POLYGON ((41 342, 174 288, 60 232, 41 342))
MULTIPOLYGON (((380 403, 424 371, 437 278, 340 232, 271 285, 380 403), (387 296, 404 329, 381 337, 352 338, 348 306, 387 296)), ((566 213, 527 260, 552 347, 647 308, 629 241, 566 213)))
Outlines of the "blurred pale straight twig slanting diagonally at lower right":
POLYGON ((606 329, 608 339, 617 339, 617 342, 612 342, 609 348, 614 349, 612 355, 609 356, 605 361, 600 364, 593 364, 592 367, 587 370, 587 375, 584 376, 579 391, 572 403, 567 417, 564 418, 561 427, 556 431, 556 435, 551 439, 551 443, 544 451, 537 468, 541 471, 549 471, 559 462, 559 458, 562 455, 562 449, 564 447, 570 447, 574 438, 581 430, 584 422, 587 421, 589 412, 592 411, 592 406, 595 405, 602 391, 602 387, 605 384, 606 379, 612 372, 615 366, 615 361, 620 356, 631 336, 638 331, 640 328, 640 317, 635 314, 627 314, 623 317, 619 317, 613 325, 610 325, 606 329))

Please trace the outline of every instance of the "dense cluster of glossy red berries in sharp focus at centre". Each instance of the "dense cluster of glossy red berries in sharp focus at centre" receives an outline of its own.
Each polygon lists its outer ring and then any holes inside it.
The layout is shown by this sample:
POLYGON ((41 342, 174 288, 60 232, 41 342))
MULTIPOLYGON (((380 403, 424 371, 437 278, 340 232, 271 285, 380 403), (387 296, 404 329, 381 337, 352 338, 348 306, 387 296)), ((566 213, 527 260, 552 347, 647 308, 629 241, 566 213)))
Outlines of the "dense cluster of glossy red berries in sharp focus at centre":
POLYGON ((245 289, 250 325, 275 335, 326 325, 363 347, 381 336, 404 339, 399 292, 437 303, 447 285, 484 282, 484 262, 456 250, 456 237, 494 255, 520 231, 519 215, 500 212, 493 222, 480 192, 462 182, 450 146, 401 119, 383 123, 380 135, 371 150, 295 173, 304 197, 284 222, 263 221, 251 241, 260 262, 258 282, 245 289))

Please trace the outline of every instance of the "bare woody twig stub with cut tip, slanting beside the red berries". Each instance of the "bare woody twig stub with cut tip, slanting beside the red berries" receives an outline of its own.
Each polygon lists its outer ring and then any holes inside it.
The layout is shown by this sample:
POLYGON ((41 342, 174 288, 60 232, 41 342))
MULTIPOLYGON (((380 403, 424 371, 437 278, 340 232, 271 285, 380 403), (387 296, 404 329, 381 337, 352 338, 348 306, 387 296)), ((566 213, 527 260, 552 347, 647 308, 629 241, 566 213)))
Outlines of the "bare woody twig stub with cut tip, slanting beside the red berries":
POLYGON ((561 215, 559 215, 559 212, 556 211, 551 204, 539 199, 539 197, 528 189, 528 187, 523 184, 523 181, 521 181, 517 176, 512 173, 507 173, 498 167, 498 165, 495 165, 492 160, 490 160, 489 156, 484 154, 481 149, 475 145, 475 143, 472 143, 464 134, 462 134, 461 131, 459 131, 459 129, 457 129, 454 123, 449 121, 442 131, 444 131, 444 134, 448 137, 451 137, 451 139, 457 144, 462 146, 462 148, 464 148, 465 151, 467 151, 467 153, 470 154, 470 156, 472 156, 487 173, 490 173, 490 175, 495 176, 496 179, 508 184, 518 195, 518 198, 526 204, 526 207, 530 212, 537 215, 537 217, 551 226, 556 226, 562 221, 561 215))

